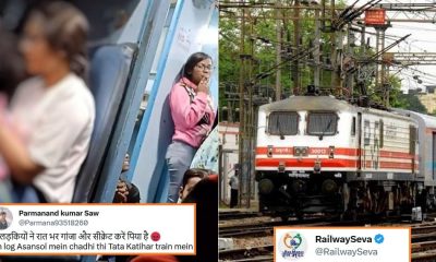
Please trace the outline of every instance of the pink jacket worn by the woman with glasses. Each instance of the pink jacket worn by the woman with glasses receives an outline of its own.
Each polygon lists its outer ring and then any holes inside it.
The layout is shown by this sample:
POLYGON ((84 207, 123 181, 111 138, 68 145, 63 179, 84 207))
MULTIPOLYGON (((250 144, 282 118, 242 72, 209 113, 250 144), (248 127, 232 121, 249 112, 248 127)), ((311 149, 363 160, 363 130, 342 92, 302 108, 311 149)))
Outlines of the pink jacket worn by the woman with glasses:
POLYGON ((170 93, 171 117, 174 121, 172 140, 182 141, 197 148, 209 134, 216 116, 210 96, 199 92, 192 99, 189 95, 189 87, 193 91, 197 90, 194 83, 183 78, 172 86, 170 93), (202 120, 206 114, 208 121, 202 120))

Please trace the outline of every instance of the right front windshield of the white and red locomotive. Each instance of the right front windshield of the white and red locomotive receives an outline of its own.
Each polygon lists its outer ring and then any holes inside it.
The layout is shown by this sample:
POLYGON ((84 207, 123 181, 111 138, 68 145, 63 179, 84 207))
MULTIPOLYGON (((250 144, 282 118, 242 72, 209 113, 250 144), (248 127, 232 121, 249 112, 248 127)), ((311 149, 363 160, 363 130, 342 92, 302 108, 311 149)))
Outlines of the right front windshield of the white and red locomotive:
POLYGON ((307 116, 307 134, 335 135, 338 128, 338 116, 335 112, 310 112, 307 116))

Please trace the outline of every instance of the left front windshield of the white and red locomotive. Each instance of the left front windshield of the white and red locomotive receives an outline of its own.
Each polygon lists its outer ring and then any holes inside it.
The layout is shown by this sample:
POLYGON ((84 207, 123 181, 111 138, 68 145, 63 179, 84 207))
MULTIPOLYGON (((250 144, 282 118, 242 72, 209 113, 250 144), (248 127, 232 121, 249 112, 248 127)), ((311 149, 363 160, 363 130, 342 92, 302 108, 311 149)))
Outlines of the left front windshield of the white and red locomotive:
POLYGON ((295 135, 299 132, 299 114, 276 111, 269 115, 268 133, 275 135, 295 135))

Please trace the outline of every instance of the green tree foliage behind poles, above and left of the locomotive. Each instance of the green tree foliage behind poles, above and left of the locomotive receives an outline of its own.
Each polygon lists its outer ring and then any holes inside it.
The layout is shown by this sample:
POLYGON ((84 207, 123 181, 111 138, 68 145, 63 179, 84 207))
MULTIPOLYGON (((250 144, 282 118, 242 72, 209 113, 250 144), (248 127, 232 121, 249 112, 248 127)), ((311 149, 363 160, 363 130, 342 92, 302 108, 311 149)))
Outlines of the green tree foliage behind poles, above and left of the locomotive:
MULTIPOLYGON (((226 1, 225 1, 226 2, 226 1)), ((262 2, 262 1, 261 1, 262 2)), ((261 3, 257 2, 257 3, 261 3)), ((291 5, 293 1, 282 0, 283 5, 291 5)), ((337 7, 344 7, 343 1, 338 1, 337 7)), ((292 61, 290 61, 295 52, 308 50, 313 48, 315 21, 313 20, 313 10, 303 9, 300 14, 301 39, 299 48, 293 39, 294 24, 292 20, 293 10, 282 9, 280 11, 281 19, 279 23, 282 26, 281 31, 281 59, 283 63, 277 67, 277 20, 274 19, 277 13, 274 9, 246 9, 245 25, 244 25, 244 46, 241 48, 241 17, 243 16, 242 9, 221 9, 219 24, 219 78, 220 78, 220 106, 227 105, 229 86, 239 85, 240 82, 240 55, 253 55, 251 79, 244 81, 253 83, 256 86, 265 88, 274 88, 276 85, 277 69, 281 69, 281 86, 282 93, 286 95, 292 94, 294 86, 292 72, 292 61), (289 60, 287 62, 287 60, 289 60), (265 73, 268 73, 267 75, 265 73), (263 75, 264 78, 256 78, 263 75)), ((329 10, 327 11, 329 14, 329 10)), ((331 49, 330 34, 322 33, 322 49, 323 58, 329 57, 331 49), (325 51, 324 51, 325 50, 325 51)), ((313 74, 313 58, 312 52, 306 51, 305 56, 300 58, 300 83, 302 88, 312 84, 313 74)), ((320 86, 330 85, 330 72, 323 71, 320 86)), ((233 90, 233 92, 235 92, 233 90)), ((231 92, 230 92, 231 93, 231 92)), ((274 95, 274 94, 272 94, 274 95)))

